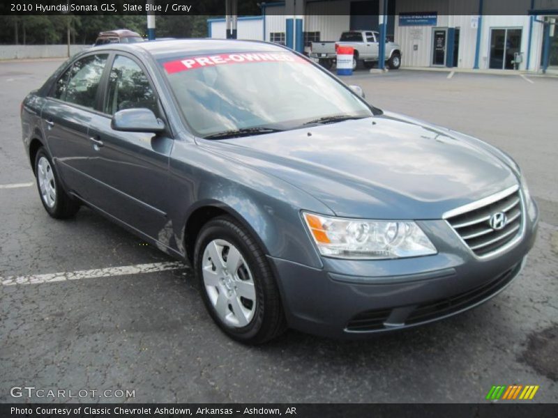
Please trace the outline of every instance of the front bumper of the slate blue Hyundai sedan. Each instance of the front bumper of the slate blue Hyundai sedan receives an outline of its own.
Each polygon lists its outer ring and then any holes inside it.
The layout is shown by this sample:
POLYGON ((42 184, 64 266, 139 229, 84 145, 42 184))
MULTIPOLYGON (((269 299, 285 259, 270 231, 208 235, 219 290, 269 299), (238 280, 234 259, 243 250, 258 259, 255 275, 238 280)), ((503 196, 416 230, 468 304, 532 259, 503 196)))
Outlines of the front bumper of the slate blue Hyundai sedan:
POLYGON ((269 257, 289 326, 322 336, 359 338, 447 318, 503 291, 520 273, 536 238, 538 213, 511 249, 480 259, 444 221, 419 222, 434 256, 359 261, 322 258, 310 268, 269 257))

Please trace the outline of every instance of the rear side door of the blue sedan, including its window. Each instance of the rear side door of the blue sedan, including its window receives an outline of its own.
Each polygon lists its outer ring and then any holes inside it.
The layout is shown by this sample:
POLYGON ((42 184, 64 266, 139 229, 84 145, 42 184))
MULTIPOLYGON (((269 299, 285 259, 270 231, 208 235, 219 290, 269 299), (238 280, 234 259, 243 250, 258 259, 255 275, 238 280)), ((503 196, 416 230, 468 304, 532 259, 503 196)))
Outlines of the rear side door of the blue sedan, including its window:
POLYGON ((70 192, 91 199, 86 165, 93 157, 89 123, 96 113, 100 80, 109 54, 89 54, 68 67, 47 95, 41 118, 47 148, 70 192))

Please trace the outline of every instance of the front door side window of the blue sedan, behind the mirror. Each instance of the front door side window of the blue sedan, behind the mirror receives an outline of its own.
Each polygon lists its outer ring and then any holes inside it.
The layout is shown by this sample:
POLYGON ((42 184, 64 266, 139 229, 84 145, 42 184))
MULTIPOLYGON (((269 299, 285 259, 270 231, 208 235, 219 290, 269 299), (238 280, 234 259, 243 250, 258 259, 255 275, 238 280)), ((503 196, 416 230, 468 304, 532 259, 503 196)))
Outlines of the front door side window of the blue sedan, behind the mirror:
POLYGON ((126 56, 117 55, 112 65, 105 100, 105 113, 144 107, 158 114, 157 100, 140 65, 126 56))

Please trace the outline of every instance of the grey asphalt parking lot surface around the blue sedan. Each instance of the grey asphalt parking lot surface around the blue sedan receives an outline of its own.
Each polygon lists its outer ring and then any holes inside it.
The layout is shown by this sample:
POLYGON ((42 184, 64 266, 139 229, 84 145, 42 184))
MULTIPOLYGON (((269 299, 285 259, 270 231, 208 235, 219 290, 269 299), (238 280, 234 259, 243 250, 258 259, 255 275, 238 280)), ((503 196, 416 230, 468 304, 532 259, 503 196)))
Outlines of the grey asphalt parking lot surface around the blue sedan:
POLYGON ((492 385, 520 384, 558 402, 557 78, 347 77, 377 107, 513 155, 541 207, 536 245, 504 293, 460 316, 369 341, 287 332, 254 348, 213 325, 186 266, 86 208, 65 222, 47 216, 19 112, 60 63, 0 63, 0 401, 54 401, 10 396, 33 386, 135 391, 92 400, 102 402, 474 403, 492 385))

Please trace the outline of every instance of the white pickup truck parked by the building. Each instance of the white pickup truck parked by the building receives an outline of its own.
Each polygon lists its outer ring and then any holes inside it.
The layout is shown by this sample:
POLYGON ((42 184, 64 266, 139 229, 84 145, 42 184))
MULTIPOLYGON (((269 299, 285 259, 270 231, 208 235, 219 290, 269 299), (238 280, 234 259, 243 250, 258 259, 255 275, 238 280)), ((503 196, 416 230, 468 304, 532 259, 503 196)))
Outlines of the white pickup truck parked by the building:
MULTIPOLYGON (((379 33, 375 31, 347 31, 341 33, 338 41, 312 42, 310 57, 319 60, 319 63, 328 70, 337 59, 337 45, 353 47, 353 70, 362 61, 365 68, 372 68, 379 61, 379 33)), ((385 58, 387 65, 392 70, 397 70, 401 65, 401 48, 395 42, 386 42, 385 58)))

